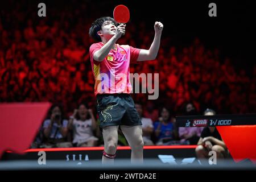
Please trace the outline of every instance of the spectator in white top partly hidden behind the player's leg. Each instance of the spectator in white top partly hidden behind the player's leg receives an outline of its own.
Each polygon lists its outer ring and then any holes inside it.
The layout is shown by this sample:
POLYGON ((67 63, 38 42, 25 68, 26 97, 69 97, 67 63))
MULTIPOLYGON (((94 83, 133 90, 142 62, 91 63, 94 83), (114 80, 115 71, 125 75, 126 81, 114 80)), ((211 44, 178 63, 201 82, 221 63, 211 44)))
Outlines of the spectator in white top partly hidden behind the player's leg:
POLYGON ((154 145, 154 143, 151 140, 151 135, 154 132, 154 126, 152 119, 150 118, 144 118, 143 110, 141 104, 135 104, 135 107, 139 113, 139 116, 141 117, 142 122, 142 138, 145 146, 154 145))

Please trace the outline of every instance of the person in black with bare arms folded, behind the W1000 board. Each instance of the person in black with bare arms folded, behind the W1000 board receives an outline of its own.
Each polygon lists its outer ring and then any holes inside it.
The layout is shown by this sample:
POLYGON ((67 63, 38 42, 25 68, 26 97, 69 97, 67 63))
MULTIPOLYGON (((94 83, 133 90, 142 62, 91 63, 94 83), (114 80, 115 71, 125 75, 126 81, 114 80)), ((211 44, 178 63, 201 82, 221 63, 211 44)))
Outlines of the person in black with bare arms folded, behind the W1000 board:
MULTIPOLYGON (((207 109, 204 111, 204 115, 215 115, 215 111, 207 109)), ((206 159, 209 158, 209 151, 216 151, 217 159, 228 156, 228 148, 226 148, 226 144, 223 142, 216 127, 205 127, 197 144, 196 155, 202 164, 208 164, 206 159)))

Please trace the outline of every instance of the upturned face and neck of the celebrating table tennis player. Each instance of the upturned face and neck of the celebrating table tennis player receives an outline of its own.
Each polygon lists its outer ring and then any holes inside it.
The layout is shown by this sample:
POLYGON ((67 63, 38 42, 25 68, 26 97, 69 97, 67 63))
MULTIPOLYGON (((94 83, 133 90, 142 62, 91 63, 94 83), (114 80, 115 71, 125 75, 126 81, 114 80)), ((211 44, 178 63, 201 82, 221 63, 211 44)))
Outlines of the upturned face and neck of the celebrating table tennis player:
POLYGON ((117 27, 115 26, 114 22, 106 20, 102 24, 101 30, 98 31, 98 35, 104 36, 106 39, 110 39, 113 35, 115 35, 115 31, 117 31, 117 27))

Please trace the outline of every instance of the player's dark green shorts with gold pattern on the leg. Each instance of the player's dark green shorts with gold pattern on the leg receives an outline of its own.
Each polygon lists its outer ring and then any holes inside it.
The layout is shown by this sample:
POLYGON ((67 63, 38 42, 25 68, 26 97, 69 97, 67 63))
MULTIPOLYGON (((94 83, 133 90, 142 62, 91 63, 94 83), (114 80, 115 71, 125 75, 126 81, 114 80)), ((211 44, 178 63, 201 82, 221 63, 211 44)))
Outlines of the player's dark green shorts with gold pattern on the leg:
POLYGON ((142 125, 133 98, 129 94, 97 94, 96 101, 101 128, 142 125))

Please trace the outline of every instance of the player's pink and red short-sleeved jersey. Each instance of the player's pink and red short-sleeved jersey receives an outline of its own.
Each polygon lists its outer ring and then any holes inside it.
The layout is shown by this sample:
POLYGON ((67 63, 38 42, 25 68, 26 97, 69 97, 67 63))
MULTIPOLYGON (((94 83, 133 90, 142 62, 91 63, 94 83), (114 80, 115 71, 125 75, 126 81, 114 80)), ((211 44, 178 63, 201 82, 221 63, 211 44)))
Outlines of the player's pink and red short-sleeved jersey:
POLYGON ((101 62, 93 59, 103 43, 90 46, 90 63, 94 75, 94 94, 131 93, 130 63, 136 63, 141 49, 128 45, 117 45, 117 50, 111 49, 108 56, 101 62))

